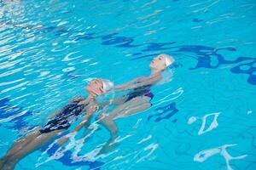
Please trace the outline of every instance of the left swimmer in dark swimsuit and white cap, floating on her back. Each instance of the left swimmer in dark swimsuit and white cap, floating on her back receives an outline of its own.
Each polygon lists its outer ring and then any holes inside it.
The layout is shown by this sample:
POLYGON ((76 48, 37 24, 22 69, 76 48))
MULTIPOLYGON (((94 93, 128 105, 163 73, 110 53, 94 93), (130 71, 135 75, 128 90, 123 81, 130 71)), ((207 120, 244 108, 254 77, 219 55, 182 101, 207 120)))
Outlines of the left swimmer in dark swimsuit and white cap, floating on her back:
POLYGON ((111 88, 113 84, 107 80, 96 79, 86 87, 88 97, 77 97, 63 106, 61 110, 56 111, 55 114, 49 116, 53 118, 44 127, 39 127, 32 133, 26 135, 26 137, 19 139, 9 149, 6 156, 0 160, 1 170, 12 170, 15 168, 23 157, 27 156, 34 150, 38 150, 43 147, 44 144, 49 143, 52 139, 55 139, 57 135, 67 130, 73 122, 79 117, 84 116, 82 122, 71 131, 68 135, 62 137, 57 141, 58 144, 64 144, 69 139, 69 136, 75 135, 82 127, 84 127, 90 120, 90 117, 97 110, 96 96, 104 94, 111 88), (84 111, 86 113, 84 113, 84 111))

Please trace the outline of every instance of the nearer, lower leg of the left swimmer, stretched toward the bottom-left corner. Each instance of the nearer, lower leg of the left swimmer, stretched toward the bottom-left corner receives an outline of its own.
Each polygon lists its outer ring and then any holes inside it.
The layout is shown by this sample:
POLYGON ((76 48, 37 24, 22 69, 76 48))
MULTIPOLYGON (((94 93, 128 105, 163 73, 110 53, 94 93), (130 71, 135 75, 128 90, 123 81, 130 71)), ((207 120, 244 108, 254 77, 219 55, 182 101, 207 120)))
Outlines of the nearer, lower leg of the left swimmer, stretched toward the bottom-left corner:
POLYGON ((15 165, 25 156, 30 154, 34 150, 38 150, 43 147, 44 144, 49 143, 54 139, 59 133, 62 133, 64 130, 55 130, 49 133, 40 133, 35 139, 30 143, 26 144, 21 150, 18 150, 13 156, 9 156, 9 159, 5 161, 3 165, 3 170, 13 170, 15 165))

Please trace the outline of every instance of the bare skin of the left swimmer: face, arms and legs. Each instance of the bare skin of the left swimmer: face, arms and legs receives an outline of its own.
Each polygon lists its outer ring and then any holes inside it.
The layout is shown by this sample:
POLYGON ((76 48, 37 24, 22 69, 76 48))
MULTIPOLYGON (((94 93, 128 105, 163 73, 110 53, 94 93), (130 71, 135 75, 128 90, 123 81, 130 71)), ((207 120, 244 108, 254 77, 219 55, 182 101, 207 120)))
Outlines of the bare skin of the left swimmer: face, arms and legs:
MULTIPOLYGON (((103 94, 102 82, 101 79, 96 79, 91 81, 86 87, 86 91, 88 92, 88 97, 79 102, 78 105, 87 105, 84 107, 84 111, 87 113, 84 114, 83 120, 79 123, 77 127, 75 127, 70 133, 66 136, 58 139, 57 144, 64 144, 67 142, 71 135, 75 135, 79 130, 84 127, 89 121, 90 117, 97 109, 96 104, 96 96, 103 94)), ((71 101, 77 101, 80 97, 74 98, 71 101)), ((50 117, 55 117, 61 110, 56 111, 54 114, 50 115, 50 117)), ((34 130, 32 133, 27 134, 25 137, 18 139, 15 144, 8 150, 7 154, 0 160, 0 169, 1 170, 13 170, 15 165, 25 156, 32 153, 34 150, 38 150, 43 147, 44 144, 49 143, 59 134, 63 133, 65 129, 54 130, 49 133, 40 133, 40 129, 34 130)))

